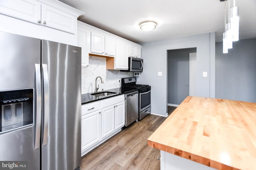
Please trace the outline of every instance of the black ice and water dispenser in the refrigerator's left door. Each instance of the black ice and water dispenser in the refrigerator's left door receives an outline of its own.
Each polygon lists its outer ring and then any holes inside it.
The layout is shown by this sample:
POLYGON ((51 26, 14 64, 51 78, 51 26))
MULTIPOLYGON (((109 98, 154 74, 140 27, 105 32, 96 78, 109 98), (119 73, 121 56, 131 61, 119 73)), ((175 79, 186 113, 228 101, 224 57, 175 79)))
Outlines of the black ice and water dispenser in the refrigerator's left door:
POLYGON ((33 123, 33 89, 0 92, 0 134, 33 123))

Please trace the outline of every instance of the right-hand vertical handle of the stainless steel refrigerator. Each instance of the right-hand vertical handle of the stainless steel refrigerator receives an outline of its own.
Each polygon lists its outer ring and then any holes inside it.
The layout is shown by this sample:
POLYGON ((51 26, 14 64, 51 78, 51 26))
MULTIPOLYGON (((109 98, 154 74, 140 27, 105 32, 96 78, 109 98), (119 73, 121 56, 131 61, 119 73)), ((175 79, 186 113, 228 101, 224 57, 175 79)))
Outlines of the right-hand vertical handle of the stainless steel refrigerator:
POLYGON ((43 129, 43 146, 47 144, 47 137, 48 137, 48 123, 49 123, 49 79, 48 79, 48 70, 47 64, 42 64, 42 79, 43 79, 43 120, 44 120, 44 127, 43 129))

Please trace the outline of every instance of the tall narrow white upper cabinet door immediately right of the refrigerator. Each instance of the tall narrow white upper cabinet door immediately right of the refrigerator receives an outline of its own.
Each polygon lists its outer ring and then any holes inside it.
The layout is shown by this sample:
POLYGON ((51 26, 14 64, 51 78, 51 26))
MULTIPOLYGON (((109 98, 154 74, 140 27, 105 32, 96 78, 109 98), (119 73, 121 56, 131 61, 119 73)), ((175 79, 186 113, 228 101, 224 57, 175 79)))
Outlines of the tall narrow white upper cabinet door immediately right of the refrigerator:
POLYGON ((91 46, 91 36, 90 31, 88 29, 84 29, 78 27, 77 30, 77 45, 78 47, 82 47, 82 67, 89 66, 89 50, 91 46))

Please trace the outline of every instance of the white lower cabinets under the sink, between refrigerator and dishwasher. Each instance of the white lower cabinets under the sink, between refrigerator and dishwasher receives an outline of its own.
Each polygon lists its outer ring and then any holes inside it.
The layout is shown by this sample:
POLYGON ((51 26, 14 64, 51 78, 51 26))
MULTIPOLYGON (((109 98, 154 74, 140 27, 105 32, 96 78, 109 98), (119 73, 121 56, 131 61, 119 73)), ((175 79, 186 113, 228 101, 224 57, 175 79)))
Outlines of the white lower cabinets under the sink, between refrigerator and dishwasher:
POLYGON ((82 156, 122 130, 124 95, 82 105, 82 156))

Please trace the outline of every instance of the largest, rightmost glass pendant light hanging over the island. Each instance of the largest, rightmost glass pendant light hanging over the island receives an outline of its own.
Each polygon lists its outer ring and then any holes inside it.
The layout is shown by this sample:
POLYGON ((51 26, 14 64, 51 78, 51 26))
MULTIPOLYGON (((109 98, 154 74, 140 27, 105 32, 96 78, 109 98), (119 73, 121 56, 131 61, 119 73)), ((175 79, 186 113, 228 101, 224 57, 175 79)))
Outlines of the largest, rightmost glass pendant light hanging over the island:
POLYGON ((230 27, 232 30, 232 41, 239 40, 239 16, 238 6, 236 6, 236 0, 233 1, 233 7, 231 10, 230 27))

